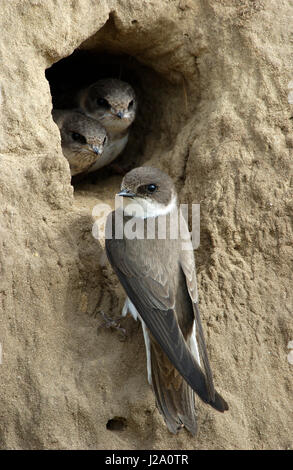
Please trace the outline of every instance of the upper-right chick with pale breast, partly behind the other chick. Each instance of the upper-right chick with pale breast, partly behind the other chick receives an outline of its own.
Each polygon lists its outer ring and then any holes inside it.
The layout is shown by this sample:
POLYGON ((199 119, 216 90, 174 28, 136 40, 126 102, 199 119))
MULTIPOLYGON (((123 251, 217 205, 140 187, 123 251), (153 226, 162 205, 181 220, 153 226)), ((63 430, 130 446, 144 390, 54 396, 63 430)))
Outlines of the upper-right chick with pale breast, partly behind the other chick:
POLYGON ((126 146, 137 108, 135 93, 128 83, 107 78, 81 90, 76 105, 86 116, 99 121, 108 134, 103 157, 89 169, 96 171, 111 163, 126 146))

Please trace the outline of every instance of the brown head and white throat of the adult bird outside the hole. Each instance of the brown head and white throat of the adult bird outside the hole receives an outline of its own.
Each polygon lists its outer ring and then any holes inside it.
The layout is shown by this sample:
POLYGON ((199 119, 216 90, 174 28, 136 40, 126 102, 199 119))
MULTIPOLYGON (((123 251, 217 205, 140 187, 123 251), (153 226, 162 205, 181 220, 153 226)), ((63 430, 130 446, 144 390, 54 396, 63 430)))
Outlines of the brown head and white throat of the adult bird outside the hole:
POLYGON ((118 195, 124 198, 127 215, 157 217, 168 214, 177 206, 176 190, 171 178, 158 168, 148 166, 127 173, 118 195), (136 209, 137 205, 139 207, 136 209))

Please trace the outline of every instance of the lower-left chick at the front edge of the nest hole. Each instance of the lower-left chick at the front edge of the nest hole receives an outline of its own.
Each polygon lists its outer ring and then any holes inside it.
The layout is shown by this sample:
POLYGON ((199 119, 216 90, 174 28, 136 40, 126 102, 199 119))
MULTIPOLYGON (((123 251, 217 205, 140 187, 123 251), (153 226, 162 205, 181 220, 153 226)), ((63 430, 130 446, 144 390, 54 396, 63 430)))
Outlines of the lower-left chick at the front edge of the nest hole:
POLYGON ((103 158, 107 132, 95 119, 65 109, 54 109, 52 116, 59 127, 62 151, 72 176, 87 171, 103 158))

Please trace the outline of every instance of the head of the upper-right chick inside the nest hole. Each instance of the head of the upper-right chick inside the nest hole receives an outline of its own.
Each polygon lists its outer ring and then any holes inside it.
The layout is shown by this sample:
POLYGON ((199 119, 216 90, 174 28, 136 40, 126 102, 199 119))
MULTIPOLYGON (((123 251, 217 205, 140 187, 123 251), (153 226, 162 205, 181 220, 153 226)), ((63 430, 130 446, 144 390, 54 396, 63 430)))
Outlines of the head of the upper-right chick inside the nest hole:
POLYGON ((137 102, 133 88, 121 80, 107 78, 88 87, 83 111, 97 119, 108 132, 123 132, 134 121, 137 102))

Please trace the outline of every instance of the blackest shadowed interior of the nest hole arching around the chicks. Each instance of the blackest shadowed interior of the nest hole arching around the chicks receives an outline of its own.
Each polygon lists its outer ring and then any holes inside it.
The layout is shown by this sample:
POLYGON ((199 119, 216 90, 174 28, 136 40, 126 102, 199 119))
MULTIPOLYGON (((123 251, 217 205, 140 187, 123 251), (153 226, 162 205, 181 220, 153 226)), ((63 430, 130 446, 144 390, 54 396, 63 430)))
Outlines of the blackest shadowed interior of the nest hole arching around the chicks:
MULTIPOLYGON (((128 144, 115 162, 132 168, 147 161, 145 142, 148 135, 158 132, 156 121, 162 114, 161 100, 154 95, 160 94, 165 87, 165 80, 156 72, 127 54, 75 50, 69 57, 50 67, 46 78, 50 84, 53 107, 57 109, 70 108, 70 96, 101 78, 118 78, 130 83, 137 96, 138 110, 130 128, 128 144)), ((167 143, 170 145, 166 140, 167 143)))

